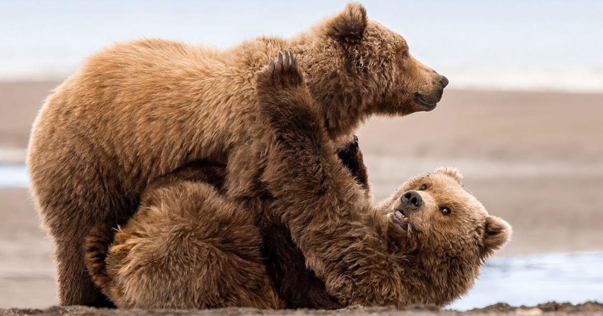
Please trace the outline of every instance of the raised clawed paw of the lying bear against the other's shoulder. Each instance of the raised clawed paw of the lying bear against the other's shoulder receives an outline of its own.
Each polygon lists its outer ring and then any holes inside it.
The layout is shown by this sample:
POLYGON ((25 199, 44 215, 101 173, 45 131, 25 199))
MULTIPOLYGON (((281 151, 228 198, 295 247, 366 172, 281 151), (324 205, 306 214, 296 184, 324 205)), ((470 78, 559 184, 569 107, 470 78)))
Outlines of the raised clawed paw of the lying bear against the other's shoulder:
POLYGON ((298 87, 303 84, 303 75, 297 67, 297 58, 293 52, 285 51, 284 58, 283 53, 279 52, 276 61, 270 58, 270 66, 259 74, 258 83, 260 87, 265 84, 277 90, 298 87))

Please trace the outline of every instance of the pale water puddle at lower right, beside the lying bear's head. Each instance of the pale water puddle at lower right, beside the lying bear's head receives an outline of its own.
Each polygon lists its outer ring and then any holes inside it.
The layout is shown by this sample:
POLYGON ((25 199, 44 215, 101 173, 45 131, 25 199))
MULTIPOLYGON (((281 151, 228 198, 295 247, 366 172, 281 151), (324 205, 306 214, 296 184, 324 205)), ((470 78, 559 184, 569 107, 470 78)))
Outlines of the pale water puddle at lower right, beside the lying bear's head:
POLYGON ((588 300, 603 302, 603 253, 491 259, 469 294, 446 308, 464 311, 497 302, 534 306, 588 300))

